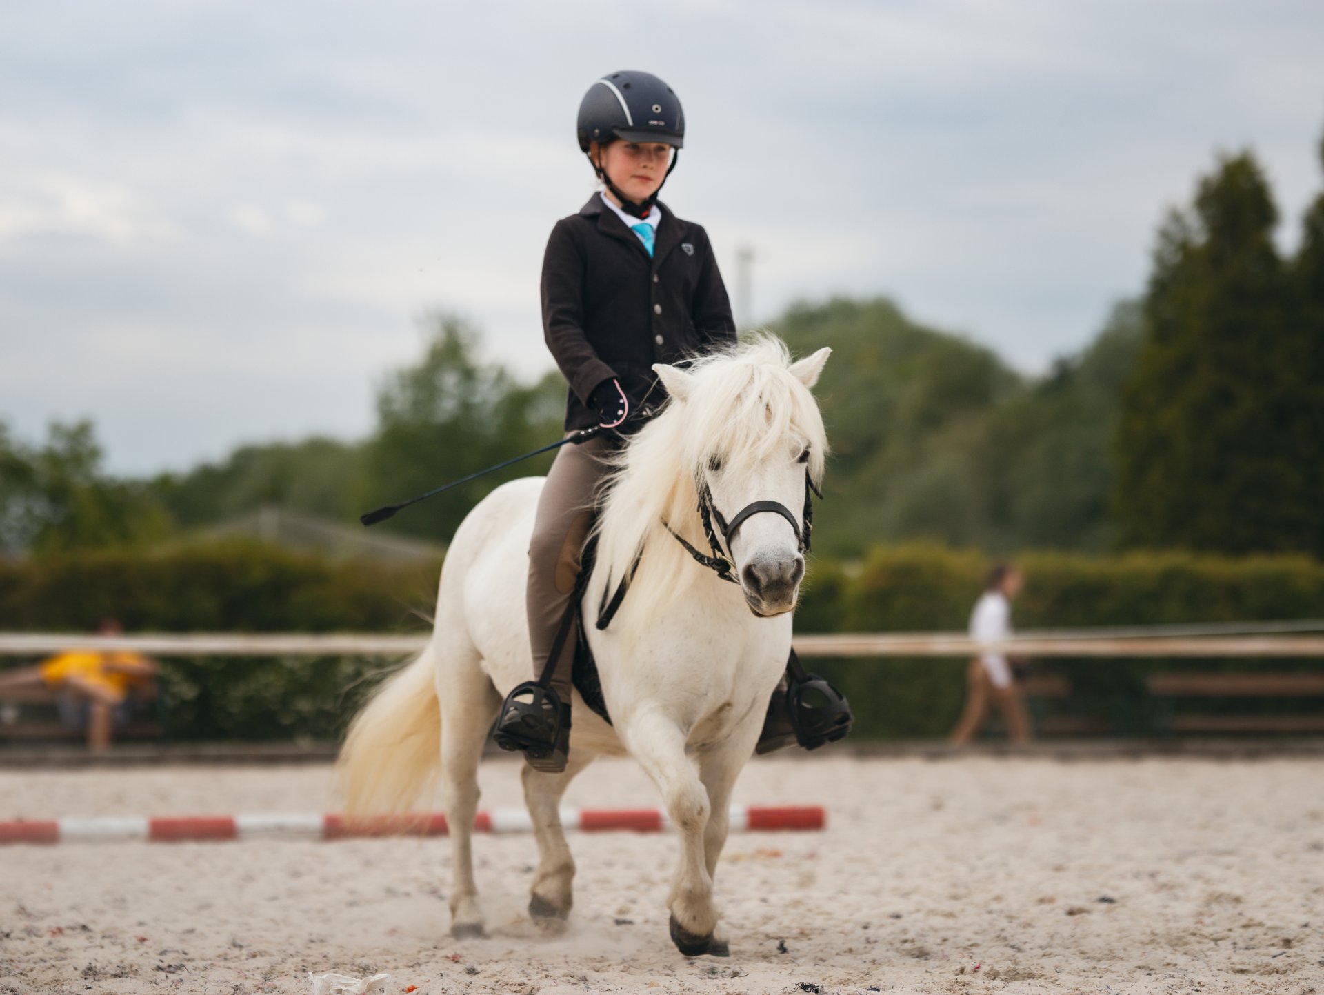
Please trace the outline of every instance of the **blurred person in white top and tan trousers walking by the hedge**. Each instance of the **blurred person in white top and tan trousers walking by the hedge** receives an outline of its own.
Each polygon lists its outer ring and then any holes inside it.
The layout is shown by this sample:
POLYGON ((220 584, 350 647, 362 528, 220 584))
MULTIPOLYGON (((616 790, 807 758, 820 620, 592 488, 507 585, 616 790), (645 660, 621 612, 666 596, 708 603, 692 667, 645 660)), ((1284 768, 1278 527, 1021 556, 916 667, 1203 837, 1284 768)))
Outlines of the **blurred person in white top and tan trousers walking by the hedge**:
MULTIPOLYGON (((1012 635, 1012 599, 1021 591, 1022 584, 1021 572, 1009 564, 998 564, 989 570, 984 594, 970 613, 970 639, 994 642, 1012 635)), ((1002 714, 1012 742, 1030 741, 1025 701, 1006 654, 996 650, 976 656, 965 672, 965 709, 952 730, 953 745, 974 738, 990 704, 1002 714)))

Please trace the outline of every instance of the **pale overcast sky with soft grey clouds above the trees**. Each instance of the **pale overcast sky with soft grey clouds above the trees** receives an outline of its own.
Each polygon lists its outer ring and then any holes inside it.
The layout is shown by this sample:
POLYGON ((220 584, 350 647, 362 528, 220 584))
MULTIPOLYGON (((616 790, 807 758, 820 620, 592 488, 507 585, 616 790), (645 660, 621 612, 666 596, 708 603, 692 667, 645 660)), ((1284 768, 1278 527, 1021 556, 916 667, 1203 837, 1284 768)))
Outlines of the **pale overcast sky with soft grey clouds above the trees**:
POLYGON ((538 275, 592 191, 598 75, 686 108, 665 191, 753 318, 895 298, 1042 369, 1141 288, 1164 210, 1254 147, 1316 195, 1324 4, 0 5, 0 421, 91 417, 111 470, 365 434, 418 318, 551 367, 538 275))

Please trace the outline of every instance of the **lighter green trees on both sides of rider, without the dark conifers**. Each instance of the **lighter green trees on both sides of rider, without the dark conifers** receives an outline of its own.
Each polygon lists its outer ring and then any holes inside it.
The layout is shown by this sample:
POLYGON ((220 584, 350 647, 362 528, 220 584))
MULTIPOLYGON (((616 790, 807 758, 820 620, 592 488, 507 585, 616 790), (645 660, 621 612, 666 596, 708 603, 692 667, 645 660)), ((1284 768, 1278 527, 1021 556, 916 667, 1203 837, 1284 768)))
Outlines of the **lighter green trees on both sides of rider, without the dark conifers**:
MULTIPOLYGON (((1090 349, 1038 381, 988 349, 912 324, 887 300, 797 306, 776 331, 797 352, 834 349, 818 389, 834 447, 818 549, 853 556, 867 542, 916 539, 990 550, 1111 542, 1110 445, 1141 339, 1135 307, 1119 307, 1090 349)), ((263 505, 354 524, 368 508, 556 439, 560 376, 522 384, 481 363, 478 349, 471 328, 438 318, 422 359, 380 386, 377 427, 363 442, 244 446, 221 463, 150 482, 99 475, 89 425, 57 426, 33 454, 0 434, 0 458, 11 454, 0 479, 13 482, 0 537, 11 552, 36 554, 151 548, 263 505)), ((519 463, 376 528, 445 542, 493 488, 549 464, 519 463)))

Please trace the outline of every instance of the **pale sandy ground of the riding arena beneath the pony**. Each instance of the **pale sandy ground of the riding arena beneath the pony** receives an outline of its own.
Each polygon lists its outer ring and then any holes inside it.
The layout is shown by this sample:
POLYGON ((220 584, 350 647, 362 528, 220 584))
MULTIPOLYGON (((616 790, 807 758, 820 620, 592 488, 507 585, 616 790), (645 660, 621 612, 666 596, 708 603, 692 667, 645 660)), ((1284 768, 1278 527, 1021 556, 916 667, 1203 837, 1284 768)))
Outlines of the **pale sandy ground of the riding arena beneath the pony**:
MULTIPOLYGON (((520 803, 485 763, 483 806, 520 803)), ((391 973, 430 992, 1324 994, 1324 761, 822 756, 755 761, 736 802, 829 828, 739 834, 731 957, 667 939, 675 840, 577 835, 576 906, 524 916, 531 836, 478 836, 489 938, 451 941, 446 840, 0 849, 0 994, 311 991, 391 973), (817 987, 816 987, 817 986, 817 987)), ((628 761, 567 804, 654 806, 628 761)), ((0 819, 326 811, 328 767, 0 773, 0 819)))

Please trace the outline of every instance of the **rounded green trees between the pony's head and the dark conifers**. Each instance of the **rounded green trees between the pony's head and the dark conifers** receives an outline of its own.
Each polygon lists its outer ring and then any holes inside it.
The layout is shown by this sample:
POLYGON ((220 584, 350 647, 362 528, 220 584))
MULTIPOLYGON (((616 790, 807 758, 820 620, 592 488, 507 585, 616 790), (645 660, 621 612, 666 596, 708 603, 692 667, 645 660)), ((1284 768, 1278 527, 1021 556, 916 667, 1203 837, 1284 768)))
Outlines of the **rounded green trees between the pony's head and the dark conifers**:
POLYGON ((886 300, 796 307, 775 331, 796 352, 833 348, 816 388, 834 453, 814 529, 824 552, 1111 545, 1117 397, 1144 331, 1133 304, 1037 381, 886 300))

